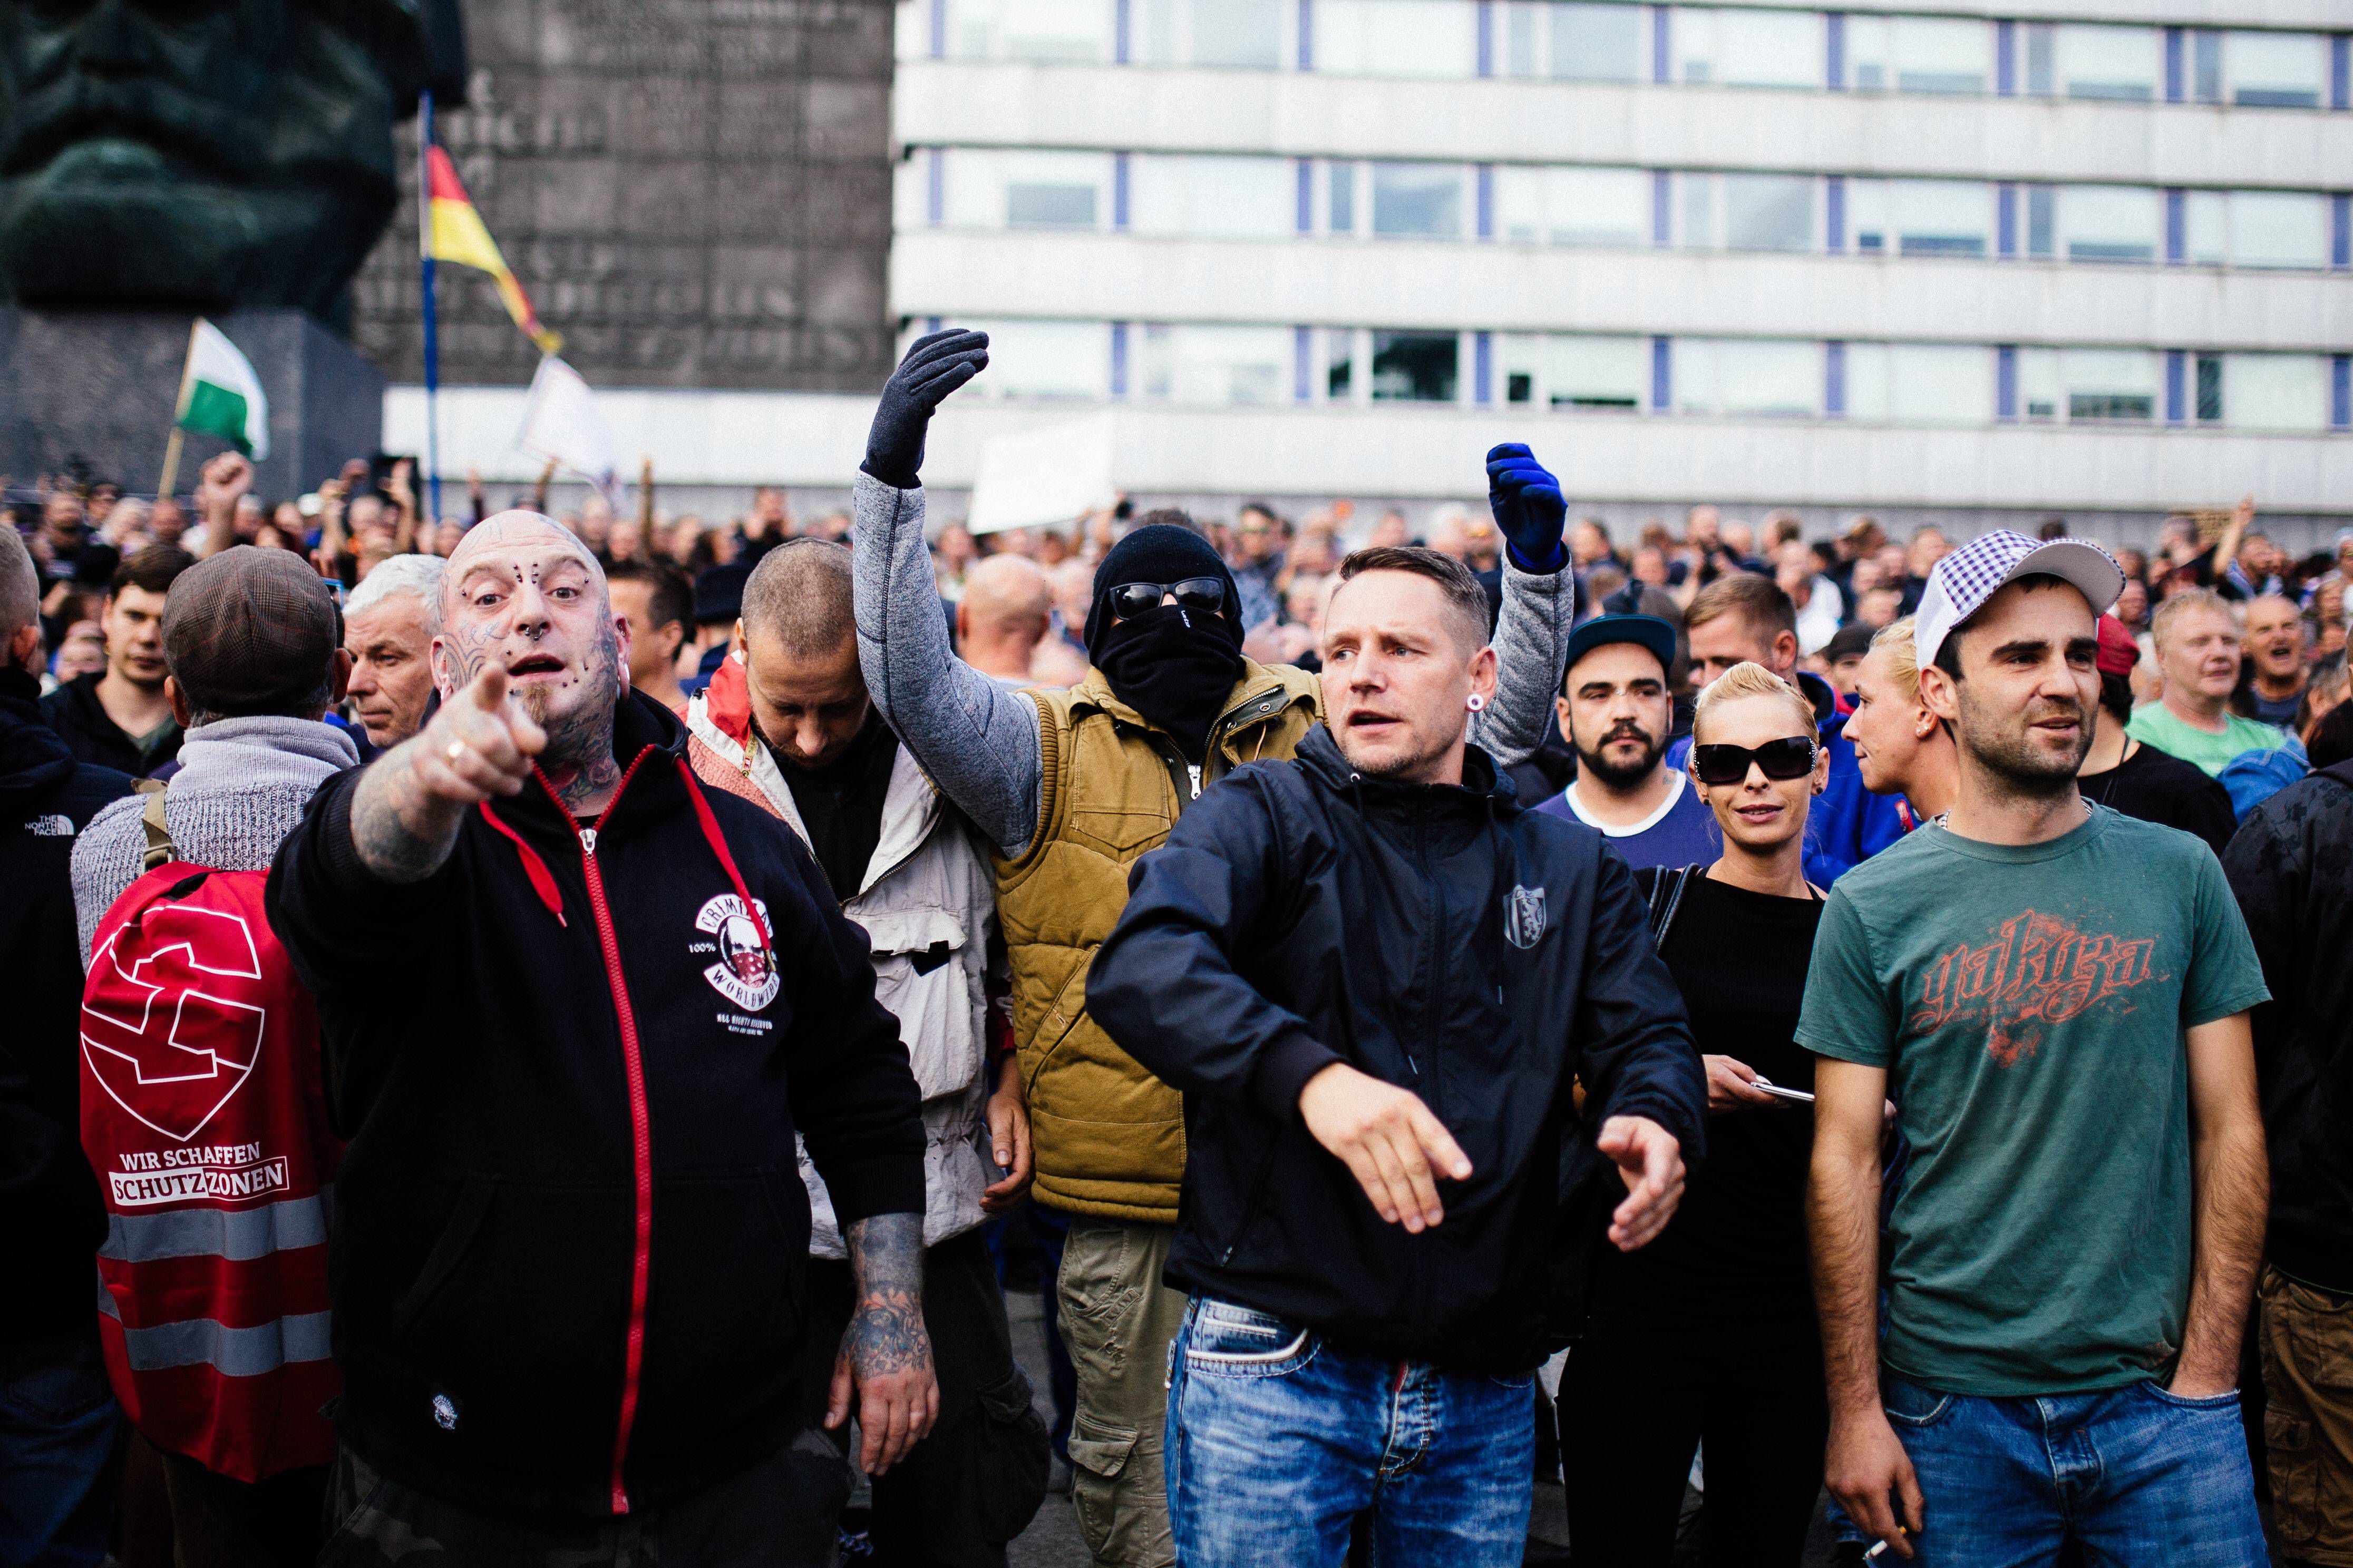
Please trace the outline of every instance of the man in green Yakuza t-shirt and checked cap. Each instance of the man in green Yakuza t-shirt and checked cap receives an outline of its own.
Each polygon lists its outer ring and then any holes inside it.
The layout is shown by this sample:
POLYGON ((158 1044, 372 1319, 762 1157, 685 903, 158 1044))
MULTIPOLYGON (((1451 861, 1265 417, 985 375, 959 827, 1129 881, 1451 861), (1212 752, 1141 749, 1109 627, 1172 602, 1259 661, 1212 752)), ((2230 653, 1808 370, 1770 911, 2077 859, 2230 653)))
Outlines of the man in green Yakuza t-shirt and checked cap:
POLYGON ((1932 1563, 2264 1563, 2264 973, 2205 842, 2075 790, 2120 585, 2007 531, 1939 562, 1920 696, 1960 795, 1838 882, 1807 973, 1828 1486, 1932 1563), (1913 1150, 1885 1274, 1882 1100, 1913 1150))

